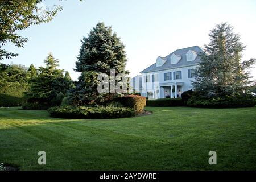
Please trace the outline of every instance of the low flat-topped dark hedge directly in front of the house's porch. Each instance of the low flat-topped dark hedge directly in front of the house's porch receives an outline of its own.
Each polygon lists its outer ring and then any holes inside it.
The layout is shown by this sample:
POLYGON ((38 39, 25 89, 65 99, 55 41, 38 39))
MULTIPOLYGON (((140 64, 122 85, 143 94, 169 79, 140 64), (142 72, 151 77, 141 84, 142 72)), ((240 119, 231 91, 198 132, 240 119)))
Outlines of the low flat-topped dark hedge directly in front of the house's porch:
POLYGON ((147 100, 146 106, 150 107, 179 107, 184 106, 181 98, 159 98, 156 100, 147 100))

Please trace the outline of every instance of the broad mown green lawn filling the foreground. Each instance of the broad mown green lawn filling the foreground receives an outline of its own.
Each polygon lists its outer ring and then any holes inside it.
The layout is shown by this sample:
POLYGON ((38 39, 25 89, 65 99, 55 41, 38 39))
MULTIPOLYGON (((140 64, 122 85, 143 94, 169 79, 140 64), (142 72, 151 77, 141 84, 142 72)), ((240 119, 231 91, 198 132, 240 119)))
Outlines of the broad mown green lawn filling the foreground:
POLYGON ((22 170, 256 169, 256 107, 147 107, 123 119, 56 119, 0 109, 0 163, 22 170), (38 151, 46 151, 46 165, 38 151), (208 152, 217 152, 210 166, 208 152))

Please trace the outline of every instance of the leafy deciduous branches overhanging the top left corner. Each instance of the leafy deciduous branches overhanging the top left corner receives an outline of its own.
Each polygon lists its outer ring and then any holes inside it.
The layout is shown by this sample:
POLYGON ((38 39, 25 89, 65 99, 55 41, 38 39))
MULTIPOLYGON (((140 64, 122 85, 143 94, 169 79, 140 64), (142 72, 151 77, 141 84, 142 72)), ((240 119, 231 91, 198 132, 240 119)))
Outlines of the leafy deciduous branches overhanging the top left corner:
POLYGON ((41 2, 42 0, 0 1, 0 60, 18 55, 3 49, 7 42, 17 47, 23 47, 27 42, 28 39, 22 38, 18 31, 25 30, 32 24, 50 22, 62 10, 60 5, 54 5, 51 9, 40 6, 41 2))

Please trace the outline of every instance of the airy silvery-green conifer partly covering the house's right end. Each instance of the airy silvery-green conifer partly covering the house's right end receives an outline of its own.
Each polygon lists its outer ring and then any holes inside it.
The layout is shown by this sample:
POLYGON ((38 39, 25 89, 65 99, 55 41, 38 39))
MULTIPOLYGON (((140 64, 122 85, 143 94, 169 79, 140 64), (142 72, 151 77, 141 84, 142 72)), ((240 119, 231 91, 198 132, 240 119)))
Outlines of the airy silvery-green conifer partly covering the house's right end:
POLYGON ((241 61, 246 46, 240 42, 240 35, 233 33, 227 23, 217 24, 210 31, 210 43, 200 53, 201 62, 192 82, 195 90, 210 96, 241 94, 250 85, 248 69, 255 59, 241 61))

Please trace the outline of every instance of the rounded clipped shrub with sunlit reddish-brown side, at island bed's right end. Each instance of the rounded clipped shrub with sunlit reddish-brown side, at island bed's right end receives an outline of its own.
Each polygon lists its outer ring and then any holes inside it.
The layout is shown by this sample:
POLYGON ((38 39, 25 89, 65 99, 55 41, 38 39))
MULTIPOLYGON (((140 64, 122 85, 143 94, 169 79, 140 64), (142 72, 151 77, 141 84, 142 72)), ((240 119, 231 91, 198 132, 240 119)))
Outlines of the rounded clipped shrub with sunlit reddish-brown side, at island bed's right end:
POLYGON ((121 103, 125 107, 134 109, 136 113, 141 113, 146 106, 146 97, 138 95, 127 95, 121 97, 121 103))

